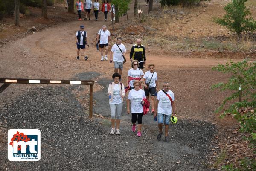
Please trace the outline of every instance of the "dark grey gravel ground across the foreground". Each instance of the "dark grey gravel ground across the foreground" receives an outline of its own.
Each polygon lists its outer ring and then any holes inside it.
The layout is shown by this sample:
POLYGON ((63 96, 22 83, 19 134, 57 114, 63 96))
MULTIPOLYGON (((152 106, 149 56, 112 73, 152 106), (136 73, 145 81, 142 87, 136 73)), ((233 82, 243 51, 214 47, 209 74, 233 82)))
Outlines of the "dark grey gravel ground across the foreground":
MULTIPOLYGON (((104 82, 108 85, 110 81, 99 81, 104 82)), ((104 90, 100 92, 105 93, 104 90)), ((99 97, 108 98, 95 93, 96 101, 99 97)), ((101 109, 102 114, 109 113, 108 106, 96 108, 101 109)), ((15 128, 41 130, 41 160, 10 162, 4 139, 5 144, 0 148, 0 170, 210 171, 202 163, 215 132, 214 125, 180 120, 171 125, 171 142, 166 143, 156 139, 157 124, 151 115, 143 116, 141 138, 131 132, 130 117, 123 116, 120 136, 110 136, 109 119, 88 119, 87 110, 76 100, 70 87, 27 89, 0 110, 1 134, 7 135, 7 130, 15 128)))

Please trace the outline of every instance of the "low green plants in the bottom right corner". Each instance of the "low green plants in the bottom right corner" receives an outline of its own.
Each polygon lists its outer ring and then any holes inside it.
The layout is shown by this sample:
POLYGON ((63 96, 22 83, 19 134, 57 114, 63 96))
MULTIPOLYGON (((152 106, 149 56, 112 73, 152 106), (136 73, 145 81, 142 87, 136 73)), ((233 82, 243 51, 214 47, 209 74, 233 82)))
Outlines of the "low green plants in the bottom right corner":
POLYGON ((224 171, 256 171, 256 161, 254 159, 244 158, 239 162, 239 168, 234 168, 232 164, 222 167, 224 171))

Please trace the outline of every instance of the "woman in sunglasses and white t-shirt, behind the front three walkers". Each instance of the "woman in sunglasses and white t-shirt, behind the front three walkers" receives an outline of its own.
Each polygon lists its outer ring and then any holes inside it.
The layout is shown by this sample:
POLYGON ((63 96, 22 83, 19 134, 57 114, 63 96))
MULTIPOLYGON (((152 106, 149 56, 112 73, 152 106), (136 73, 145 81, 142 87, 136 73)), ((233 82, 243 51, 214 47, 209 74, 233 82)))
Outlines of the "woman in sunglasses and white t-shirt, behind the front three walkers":
POLYGON ((135 80, 141 80, 143 78, 143 71, 138 68, 139 67, 139 61, 138 60, 133 60, 131 62, 131 69, 128 70, 127 74, 127 87, 130 87, 130 90, 134 89, 134 81, 135 80))

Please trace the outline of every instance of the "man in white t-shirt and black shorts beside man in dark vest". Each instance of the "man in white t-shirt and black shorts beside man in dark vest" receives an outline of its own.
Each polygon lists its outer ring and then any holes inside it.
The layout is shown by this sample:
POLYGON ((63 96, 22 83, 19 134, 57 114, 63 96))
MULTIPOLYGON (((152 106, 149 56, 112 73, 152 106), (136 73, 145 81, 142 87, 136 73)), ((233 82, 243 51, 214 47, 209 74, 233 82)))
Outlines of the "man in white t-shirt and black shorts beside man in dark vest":
POLYGON ((110 32, 107 30, 107 26, 103 25, 102 29, 99 30, 96 43, 99 41, 99 48, 100 48, 100 54, 101 54, 101 61, 108 60, 108 41, 110 41, 110 32), (106 49, 105 51, 105 57, 103 56, 104 47, 106 49))

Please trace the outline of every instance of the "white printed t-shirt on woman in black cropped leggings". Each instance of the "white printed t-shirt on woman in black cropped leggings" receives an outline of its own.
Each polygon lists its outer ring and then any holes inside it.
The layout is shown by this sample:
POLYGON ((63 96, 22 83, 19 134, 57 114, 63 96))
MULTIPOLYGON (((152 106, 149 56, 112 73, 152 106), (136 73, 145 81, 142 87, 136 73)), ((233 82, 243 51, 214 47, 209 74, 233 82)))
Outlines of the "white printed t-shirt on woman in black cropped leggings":
POLYGON ((146 95, 141 89, 138 91, 132 89, 129 92, 127 99, 131 100, 131 113, 143 113, 143 105, 141 104, 143 98, 146 98, 146 95))

